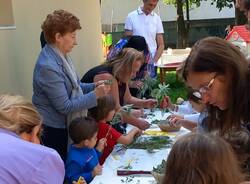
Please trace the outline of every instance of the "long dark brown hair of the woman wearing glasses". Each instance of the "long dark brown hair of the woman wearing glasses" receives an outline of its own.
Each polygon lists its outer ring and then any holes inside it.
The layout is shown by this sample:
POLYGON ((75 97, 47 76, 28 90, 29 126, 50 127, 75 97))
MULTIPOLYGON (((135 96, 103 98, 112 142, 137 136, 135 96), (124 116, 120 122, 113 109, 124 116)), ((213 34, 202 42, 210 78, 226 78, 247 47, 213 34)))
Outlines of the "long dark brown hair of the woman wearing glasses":
POLYGON ((250 119, 249 65, 240 50, 226 40, 208 37, 198 41, 183 66, 183 78, 190 72, 211 72, 223 75, 228 83, 226 110, 209 105, 208 131, 224 134, 250 119))

